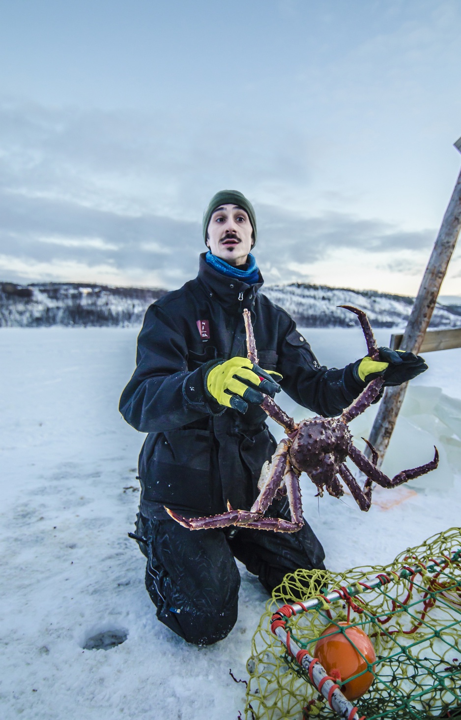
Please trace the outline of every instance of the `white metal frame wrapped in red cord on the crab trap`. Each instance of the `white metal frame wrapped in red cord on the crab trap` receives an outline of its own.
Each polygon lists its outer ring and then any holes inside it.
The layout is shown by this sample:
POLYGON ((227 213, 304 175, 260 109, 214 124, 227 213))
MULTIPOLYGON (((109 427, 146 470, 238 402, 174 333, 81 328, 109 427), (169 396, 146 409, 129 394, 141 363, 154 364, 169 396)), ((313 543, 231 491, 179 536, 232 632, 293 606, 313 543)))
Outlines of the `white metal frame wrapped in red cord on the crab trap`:
MULTIPOLYGON (((458 550, 452 555, 451 559, 447 557, 431 558, 429 563, 432 564, 415 564, 403 566, 400 572, 396 572, 395 575, 398 579, 411 579, 418 573, 422 574, 423 569, 428 572, 437 572, 442 564, 445 564, 447 560, 449 562, 459 562, 461 550, 458 550)), ((328 675, 323 665, 317 660, 316 657, 312 657, 306 649, 299 646, 295 639, 291 637, 290 630, 286 629, 286 621, 293 615, 298 613, 306 613, 309 610, 319 610, 322 607, 326 608, 330 603, 341 600, 346 601, 350 605, 350 598, 362 593, 367 590, 374 590, 380 588, 383 585, 388 585, 389 582, 393 581, 393 577, 387 573, 378 573, 375 577, 368 580, 367 582, 357 582, 355 585, 349 585, 344 588, 338 588, 332 590, 328 595, 316 595, 316 597, 306 600, 305 603, 293 603, 293 605, 284 605, 278 608, 271 618, 270 629, 275 636, 278 637, 280 642, 285 645, 288 655, 295 660, 301 669, 309 676, 309 680, 312 685, 319 690, 319 693, 326 698, 329 706, 339 717, 344 720, 366 720, 365 715, 359 716, 357 706, 354 706, 347 698, 342 694, 339 685, 337 684, 337 678, 332 678, 328 675), (360 587, 359 587, 360 586, 360 587)), ((354 603, 352 603, 353 605, 354 603)), ((356 648, 357 649, 357 648, 356 648)), ((360 650, 357 649, 360 653, 360 650)), ((361 654, 361 653, 360 653, 361 654)), ((362 655, 365 662, 368 660, 362 655)), ((368 672, 365 670, 364 672, 368 672)))

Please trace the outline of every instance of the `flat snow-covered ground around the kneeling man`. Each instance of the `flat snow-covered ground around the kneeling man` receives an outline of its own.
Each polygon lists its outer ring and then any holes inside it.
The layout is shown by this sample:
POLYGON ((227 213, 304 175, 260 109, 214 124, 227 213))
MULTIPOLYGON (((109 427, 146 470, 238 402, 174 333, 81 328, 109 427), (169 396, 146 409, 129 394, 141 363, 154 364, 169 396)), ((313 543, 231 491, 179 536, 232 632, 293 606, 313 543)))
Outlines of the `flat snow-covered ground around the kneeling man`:
MULTIPOLYGON (((376 333, 388 343, 389 330, 376 333)), ((266 600, 244 568, 239 619, 227 639, 197 648, 158 623, 144 558, 127 538, 137 510, 142 436, 117 410, 134 367, 137 331, 5 328, 1 343, 0 715, 40 720, 236 720, 250 640, 266 600), (101 631, 118 647, 84 650, 101 631)), ((306 330, 319 361, 342 366, 365 351, 360 330, 306 330)), ((306 518, 334 570, 390 562, 406 546, 460 526, 461 349, 427 356, 408 393, 388 464, 442 469, 419 485, 376 490, 369 513, 350 496, 314 498, 306 518), (441 388, 429 390, 428 388, 441 388), (458 438, 456 437, 458 436, 458 438)), ((301 417, 288 398, 280 401, 301 417)), ((360 437, 374 409, 352 429, 360 437), (361 424, 360 424, 361 423, 361 424)), ((357 445, 360 444, 357 440, 357 445)))

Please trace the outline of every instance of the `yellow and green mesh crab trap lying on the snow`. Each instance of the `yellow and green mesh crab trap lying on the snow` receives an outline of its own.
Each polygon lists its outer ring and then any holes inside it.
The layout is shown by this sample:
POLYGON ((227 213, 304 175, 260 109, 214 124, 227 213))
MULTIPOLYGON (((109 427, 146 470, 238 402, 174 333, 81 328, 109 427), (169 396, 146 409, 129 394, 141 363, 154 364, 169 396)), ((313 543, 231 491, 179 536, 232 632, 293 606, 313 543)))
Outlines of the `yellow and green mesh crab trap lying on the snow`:
POLYGON ((461 528, 385 567, 286 575, 247 670, 247 720, 461 719, 461 528), (322 633, 347 635, 359 661, 347 682, 316 658, 322 633), (354 682, 370 687, 348 700, 354 682))

